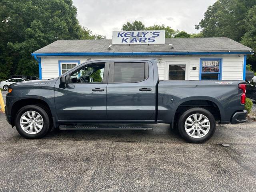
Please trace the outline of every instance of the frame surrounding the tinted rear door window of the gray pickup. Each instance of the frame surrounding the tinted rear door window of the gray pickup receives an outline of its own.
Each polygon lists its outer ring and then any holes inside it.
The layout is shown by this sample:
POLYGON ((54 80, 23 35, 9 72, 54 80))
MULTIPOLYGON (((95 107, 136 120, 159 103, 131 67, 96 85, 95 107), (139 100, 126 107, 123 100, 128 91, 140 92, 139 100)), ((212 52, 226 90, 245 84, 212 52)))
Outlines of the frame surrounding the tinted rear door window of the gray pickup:
POLYGON ((138 83, 138 82, 143 82, 143 81, 146 81, 148 79, 148 70, 149 70, 148 62, 116 60, 116 61, 110 62, 109 73, 108 73, 108 83, 138 83), (136 81, 136 82, 114 82, 114 64, 115 63, 144 63, 144 74, 145 74, 144 80, 136 81))

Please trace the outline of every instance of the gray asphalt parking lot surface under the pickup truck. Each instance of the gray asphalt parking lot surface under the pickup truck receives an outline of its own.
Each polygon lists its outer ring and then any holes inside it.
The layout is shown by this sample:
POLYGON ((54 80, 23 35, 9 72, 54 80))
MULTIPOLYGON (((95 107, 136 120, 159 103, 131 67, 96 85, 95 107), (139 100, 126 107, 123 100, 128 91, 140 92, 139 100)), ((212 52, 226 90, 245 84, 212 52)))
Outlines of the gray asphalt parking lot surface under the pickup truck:
POLYGON ((218 125, 204 144, 165 124, 26 140, 0 114, 0 191, 256 191, 255 161, 253 121, 218 125))

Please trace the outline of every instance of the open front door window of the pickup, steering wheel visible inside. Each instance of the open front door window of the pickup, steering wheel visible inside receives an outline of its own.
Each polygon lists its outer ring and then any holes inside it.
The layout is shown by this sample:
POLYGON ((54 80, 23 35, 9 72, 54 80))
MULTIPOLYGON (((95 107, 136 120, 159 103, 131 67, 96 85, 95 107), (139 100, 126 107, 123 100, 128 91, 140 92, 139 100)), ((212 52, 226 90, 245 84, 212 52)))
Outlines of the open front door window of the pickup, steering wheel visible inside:
POLYGON ((102 82, 105 63, 97 63, 76 70, 70 75, 70 83, 102 82))

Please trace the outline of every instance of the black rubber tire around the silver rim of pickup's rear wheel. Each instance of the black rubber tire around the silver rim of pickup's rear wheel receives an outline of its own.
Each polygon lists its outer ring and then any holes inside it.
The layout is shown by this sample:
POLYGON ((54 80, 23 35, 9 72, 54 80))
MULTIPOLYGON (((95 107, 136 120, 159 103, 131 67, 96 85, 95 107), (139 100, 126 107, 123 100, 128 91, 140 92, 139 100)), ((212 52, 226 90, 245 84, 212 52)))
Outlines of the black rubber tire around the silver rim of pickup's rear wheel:
POLYGON ((188 110, 186 110, 185 112, 183 112, 183 114, 180 116, 179 121, 178 121, 178 131, 180 133, 180 135, 188 142, 191 143, 202 143, 202 142, 206 142, 207 140, 209 140, 216 129, 216 121, 214 116, 212 115, 212 113, 210 113, 208 110, 204 109, 204 108, 190 108, 188 110), (204 116, 206 116, 206 118, 208 118, 209 122, 210 122, 210 129, 209 132, 201 137, 201 138, 193 138, 192 136, 188 135, 188 133, 185 130, 185 121, 186 119, 191 116, 192 114, 202 114, 204 116))

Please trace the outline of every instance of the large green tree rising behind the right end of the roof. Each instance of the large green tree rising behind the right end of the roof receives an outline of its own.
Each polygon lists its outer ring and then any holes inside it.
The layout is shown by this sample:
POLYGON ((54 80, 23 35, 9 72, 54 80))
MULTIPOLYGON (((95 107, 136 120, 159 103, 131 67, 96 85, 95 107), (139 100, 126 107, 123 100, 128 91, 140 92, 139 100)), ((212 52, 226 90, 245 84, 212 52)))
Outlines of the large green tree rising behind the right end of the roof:
POLYGON ((208 7, 196 29, 202 29, 205 37, 227 36, 240 41, 246 29, 244 18, 254 5, 254 0, 218 0, 208 7))

